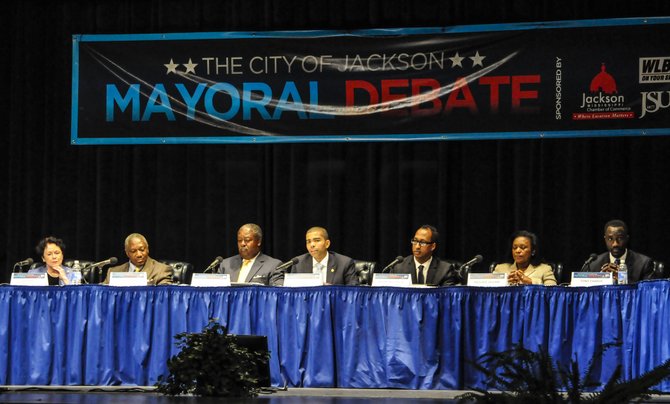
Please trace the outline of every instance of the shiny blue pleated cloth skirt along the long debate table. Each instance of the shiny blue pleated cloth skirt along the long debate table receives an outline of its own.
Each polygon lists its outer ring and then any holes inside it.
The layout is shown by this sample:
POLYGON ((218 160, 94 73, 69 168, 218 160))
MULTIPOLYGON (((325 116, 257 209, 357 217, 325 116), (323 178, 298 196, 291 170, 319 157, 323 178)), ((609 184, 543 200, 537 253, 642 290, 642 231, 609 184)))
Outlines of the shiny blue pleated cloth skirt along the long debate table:
MULTIPOLYGON (((670 358, 670 281, 567 288, 0 288, 0 384, 153 385, 174 335, 267 335, 275 386, 484 387, 469 361, 523 344, 625 378, 670 358)), ((662 391, 670 391, 670 381, 662 391)))

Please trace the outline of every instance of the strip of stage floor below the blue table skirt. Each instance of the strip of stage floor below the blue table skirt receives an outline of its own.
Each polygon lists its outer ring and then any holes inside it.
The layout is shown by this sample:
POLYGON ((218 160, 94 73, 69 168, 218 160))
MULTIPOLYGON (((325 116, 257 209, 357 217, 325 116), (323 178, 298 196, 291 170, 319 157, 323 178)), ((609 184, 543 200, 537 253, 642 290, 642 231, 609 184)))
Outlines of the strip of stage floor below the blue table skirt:
MULTIPOLYGON (((225 399, 226 403, 456 403, 464 393, 454 390, 392 390, 392 389, 312 389, 290 388, 261 394, 254 399, 225 399)), ((91 386, 0 386, 0 403, 61 404, 160 404, 220 403, 222 398, 194 396, 169 397, 158 394, 153 387, 91 387, 91 386)), ((670 403, 670 395, 654 396, 649 403, 670 403)))

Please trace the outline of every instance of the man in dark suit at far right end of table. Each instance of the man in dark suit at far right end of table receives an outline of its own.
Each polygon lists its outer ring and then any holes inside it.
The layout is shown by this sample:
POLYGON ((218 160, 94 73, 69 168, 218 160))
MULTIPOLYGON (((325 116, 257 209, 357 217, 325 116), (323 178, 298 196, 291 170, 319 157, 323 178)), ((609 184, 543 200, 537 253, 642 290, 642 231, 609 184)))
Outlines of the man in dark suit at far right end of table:
POLYGON ((654 277, 651 258, 627 248, 629 236, 626 223, 621 220, 607 222, 604 238, 607 252, 600 254, 589 264, 590 272, 613 272, 616 276, 619 264, 624 262, 628 267, 628 283, 654 277))

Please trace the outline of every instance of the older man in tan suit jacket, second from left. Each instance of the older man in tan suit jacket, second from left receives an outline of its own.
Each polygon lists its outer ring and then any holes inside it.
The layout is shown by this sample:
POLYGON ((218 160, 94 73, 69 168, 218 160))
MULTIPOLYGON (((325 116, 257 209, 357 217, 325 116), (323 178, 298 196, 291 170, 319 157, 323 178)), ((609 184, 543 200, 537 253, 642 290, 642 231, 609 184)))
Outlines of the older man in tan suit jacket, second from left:
POLYGON ((109 268, 105 284, 109 283, 109 275, 112 272, 146 272, 149 285, 172 283, 172 267, 149 257, 149 242, 143 235, 130 234, 126 237, 124 246, 129 262, 109 268))

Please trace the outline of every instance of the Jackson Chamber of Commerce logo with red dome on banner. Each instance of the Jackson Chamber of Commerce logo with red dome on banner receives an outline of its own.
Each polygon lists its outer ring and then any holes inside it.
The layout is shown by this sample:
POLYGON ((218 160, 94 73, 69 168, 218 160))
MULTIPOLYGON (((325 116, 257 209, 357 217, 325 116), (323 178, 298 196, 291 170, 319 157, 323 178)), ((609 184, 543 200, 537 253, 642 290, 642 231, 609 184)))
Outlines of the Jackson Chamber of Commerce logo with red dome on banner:
POLYGON ((619 94, 614 77, 607 72, 605 63, 591 80, 589 91, 582 93, 578 112, 573 112, 573 121, 595 119, 631 119, 635 112, 626 106, 626 97, 619 94))

